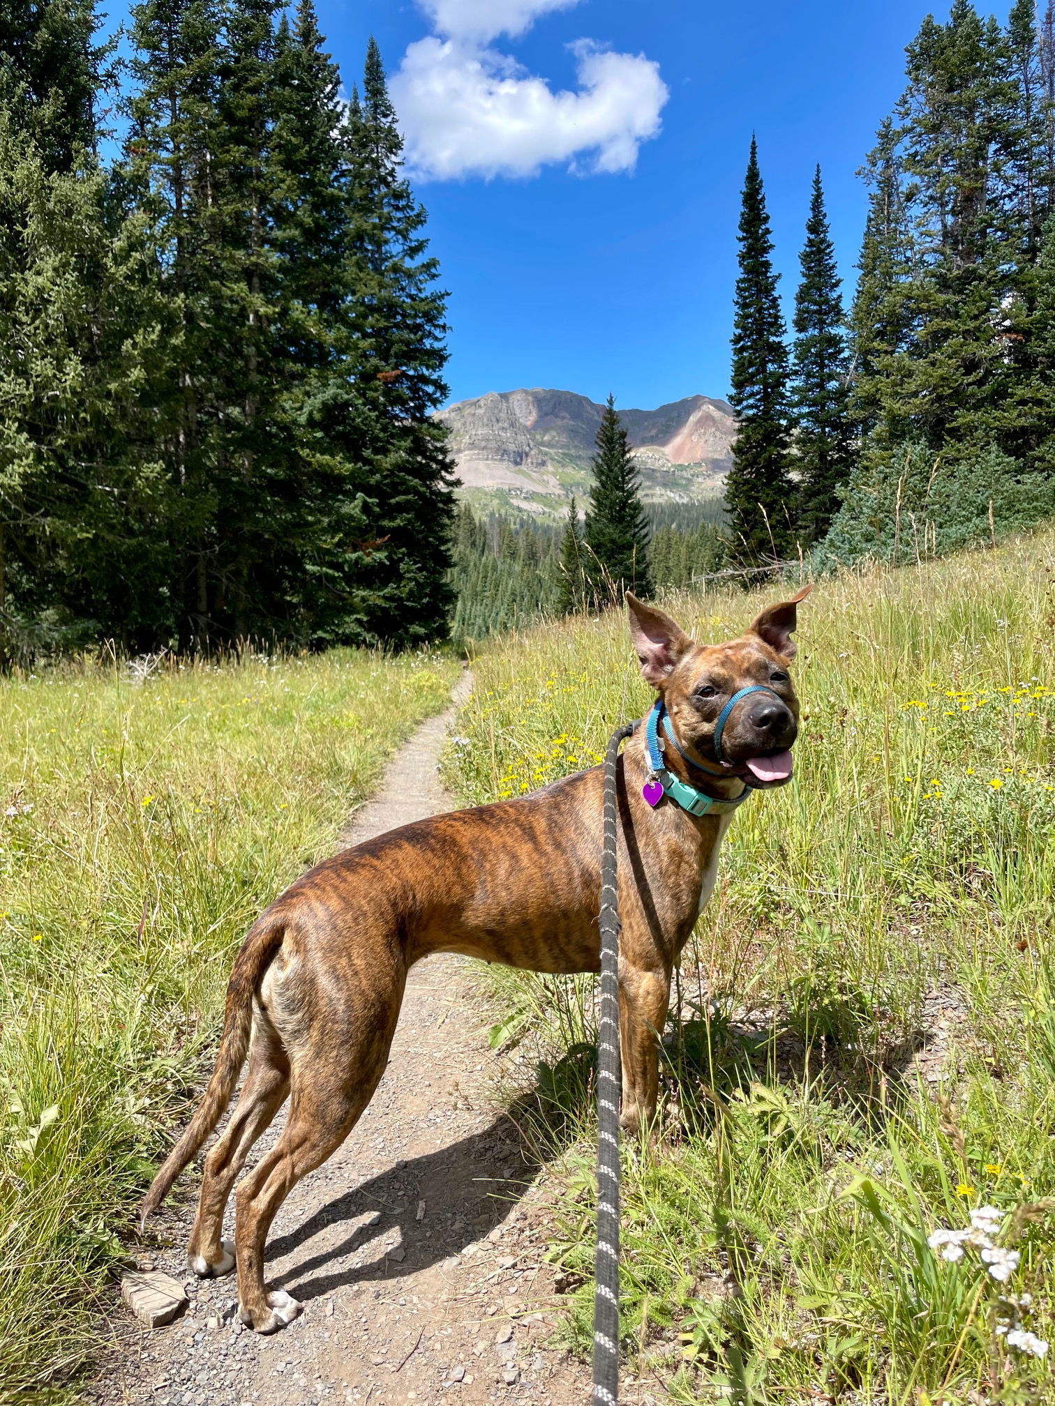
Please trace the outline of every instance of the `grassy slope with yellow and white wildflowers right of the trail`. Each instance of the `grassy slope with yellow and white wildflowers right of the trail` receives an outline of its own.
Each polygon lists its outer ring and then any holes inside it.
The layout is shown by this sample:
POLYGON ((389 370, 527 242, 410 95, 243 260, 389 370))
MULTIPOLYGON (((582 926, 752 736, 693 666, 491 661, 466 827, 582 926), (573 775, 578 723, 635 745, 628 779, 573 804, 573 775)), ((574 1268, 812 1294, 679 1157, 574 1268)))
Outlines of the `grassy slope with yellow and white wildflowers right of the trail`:
MULTIPOLYGON (((774 595, 667 605, 720 640, 774 595)), ((796 776, 733 823, 664 1126, 625 1150, 627 1396, 1055 1400, 1055 537, 826 581, 799 620, 796 776)), ((592 765, 648 703, 618 616, 474 668, 467 801, 592 765)), ((550 1254, 587 1354, 589 983, 492 980, 560 1144, 550 1254)))

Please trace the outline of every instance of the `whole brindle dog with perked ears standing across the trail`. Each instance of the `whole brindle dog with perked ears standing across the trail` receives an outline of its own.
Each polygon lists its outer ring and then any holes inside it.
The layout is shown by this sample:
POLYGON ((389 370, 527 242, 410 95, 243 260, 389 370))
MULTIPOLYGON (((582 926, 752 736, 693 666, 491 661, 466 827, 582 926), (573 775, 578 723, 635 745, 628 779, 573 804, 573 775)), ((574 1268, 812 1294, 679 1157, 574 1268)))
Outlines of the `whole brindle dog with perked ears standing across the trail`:
MULTIPOLYGON (((658 689, 691 765, 667 748, 668 770, 716 799, 784 785, 799 704, 793 600, 764 610, 738 640, 699 645, 663 610, 627 596, 641 672, 658 689), (713 733, 736 704, 716 766, 713 733)), ((710 897, 730 814, 695 818, 670 797, 641 796, 650 766, 641 730, 619 763, 619 955, 622 1123, 656 1112, 657 1032, 671 970, 710 897)), ((249 1067, 231 1119, 205 1159, 188 1263, 196 1274, 238 1264, 242 1322, 260 1333, 300 1305, 264 1285, 264 1240, 295 1182, 347 1137, 384 1071, 407 973, 430 952, 463 952, 529 972, 596 972, 602 769, 532 796, 435 815, 335 855, 298 879, 253 924, 226 993, 217 1067, 190 1126, 158 1173, 142 1220, 217 1126, 249 1067), (286 1128, 238 1188, 235 1243, 224 1208, 249 1149, 286 1098, 286 1128)))

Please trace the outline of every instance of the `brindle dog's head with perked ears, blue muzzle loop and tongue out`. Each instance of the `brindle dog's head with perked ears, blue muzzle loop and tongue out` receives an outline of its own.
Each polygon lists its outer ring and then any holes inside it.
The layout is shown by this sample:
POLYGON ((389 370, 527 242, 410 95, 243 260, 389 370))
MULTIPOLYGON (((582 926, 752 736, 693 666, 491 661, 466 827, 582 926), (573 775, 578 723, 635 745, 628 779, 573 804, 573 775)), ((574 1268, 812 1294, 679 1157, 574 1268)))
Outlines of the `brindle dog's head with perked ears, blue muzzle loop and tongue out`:
POLYGON ((632 595, 626 598, 641 673, 660 690, 678 742, 709 766, 719 765, 715 727, 726 703, 753 685, 771 690, 741 699, 722 733, 722 770, 729 776, 750 775, 753 786, 784 786, 791 780, 799 700, 788 665, 795 658, 796 606, 810 589, 762 610, 738 640, 727 644, 695 644, 663 610, 632 595))

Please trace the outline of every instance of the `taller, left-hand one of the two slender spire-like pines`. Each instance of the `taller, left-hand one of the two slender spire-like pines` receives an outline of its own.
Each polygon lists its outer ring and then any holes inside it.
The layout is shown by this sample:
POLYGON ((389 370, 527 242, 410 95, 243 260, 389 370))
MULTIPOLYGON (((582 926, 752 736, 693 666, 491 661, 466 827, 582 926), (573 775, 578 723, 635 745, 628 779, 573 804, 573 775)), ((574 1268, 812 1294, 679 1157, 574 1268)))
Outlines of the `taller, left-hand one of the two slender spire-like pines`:
POLYGON ((792 484, 788 474, 788 347, 754 138, 738 240, 730 395, 737 416, 737 437, 726 481, 726 503, 733 554, 744 565, 757 565, 779 558, 788 546, 792 484))

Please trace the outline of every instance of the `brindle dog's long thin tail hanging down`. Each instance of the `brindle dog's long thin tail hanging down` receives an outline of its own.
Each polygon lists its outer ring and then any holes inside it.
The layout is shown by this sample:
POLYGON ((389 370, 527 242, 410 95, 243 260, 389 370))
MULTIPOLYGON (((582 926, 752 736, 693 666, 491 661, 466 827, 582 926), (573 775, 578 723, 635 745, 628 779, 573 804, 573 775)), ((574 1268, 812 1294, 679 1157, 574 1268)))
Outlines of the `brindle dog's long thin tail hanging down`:
POLYGON ((158 1206, 165 1201, 172 1184, 198 1152, 204 1140, 219 1122, 224 1109, 235 1091, 238 1076, 249 1049, 249 1035, 253 1025, 253 995, 264 967, 281 946, 286 925, 277 918, 260 918, 242 943, 235 960, 235 969, 226 987, 224 1010, 224 1035, 219 1040, 217 1067, 208 1081, 205 1097, 198 1111, 176 1146, 165 1160, 139 1206, 139 1229, 146 1225, 158 1206))

